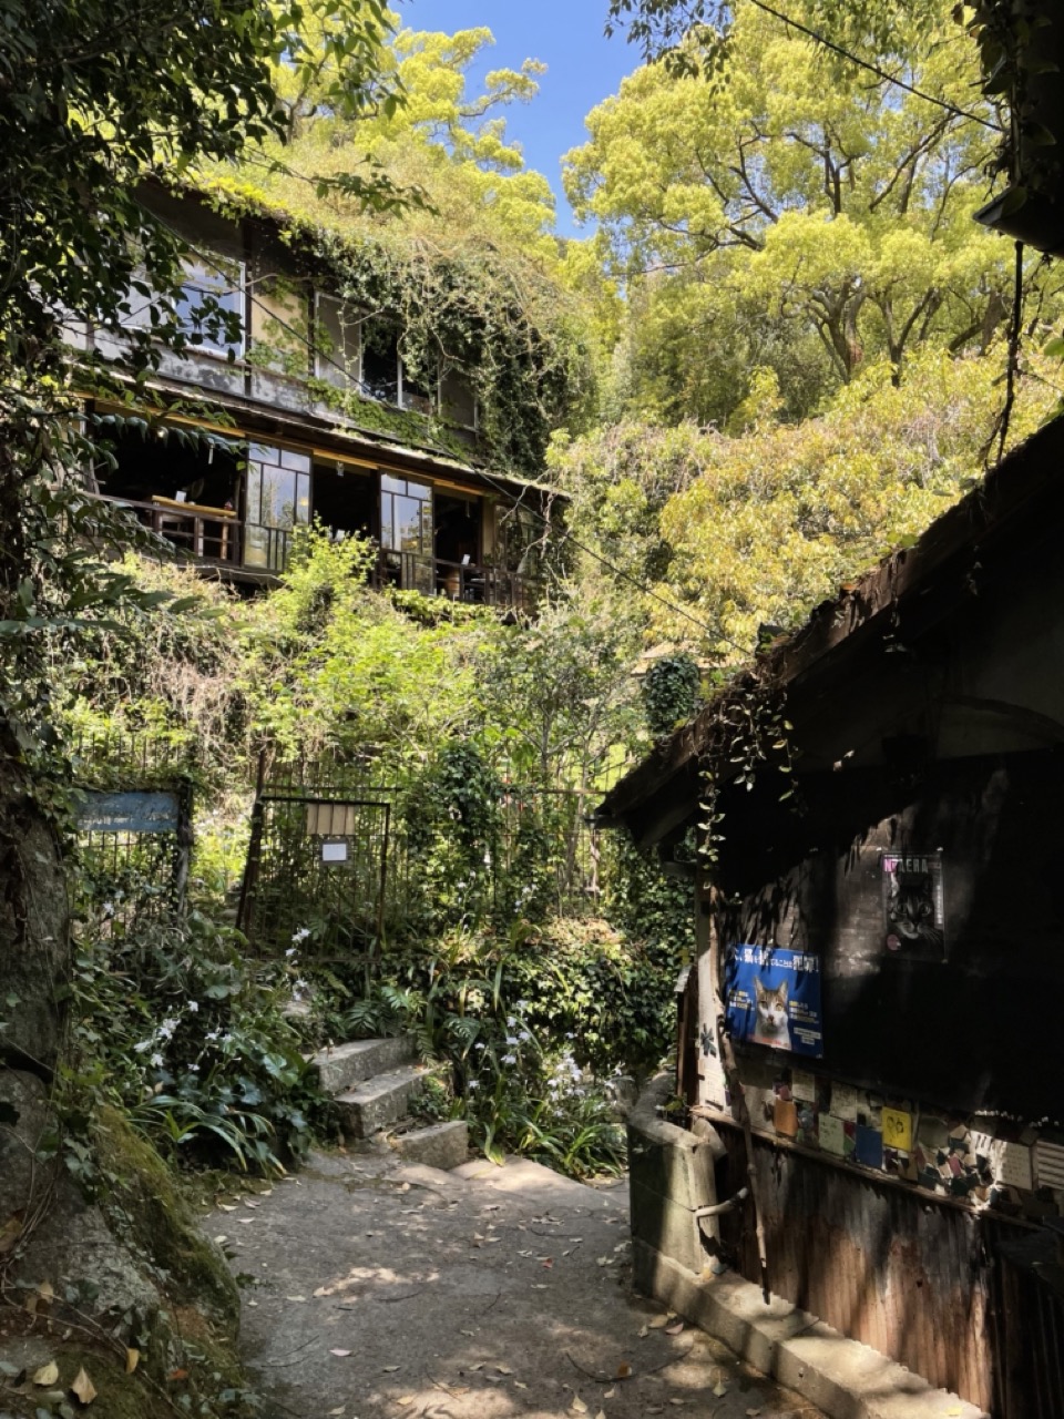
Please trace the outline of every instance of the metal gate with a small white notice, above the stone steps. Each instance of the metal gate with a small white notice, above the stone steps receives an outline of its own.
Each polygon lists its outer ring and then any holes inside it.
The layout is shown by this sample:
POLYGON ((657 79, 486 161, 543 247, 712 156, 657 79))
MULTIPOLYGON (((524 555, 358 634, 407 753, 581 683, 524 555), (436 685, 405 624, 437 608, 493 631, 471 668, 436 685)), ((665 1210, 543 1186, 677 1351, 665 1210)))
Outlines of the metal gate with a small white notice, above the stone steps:
POLYGON ((240 929, 260 951, 294 942, 318 958, 375 955, 387 888, 392 805, 261 793, 240 893, 240 929))

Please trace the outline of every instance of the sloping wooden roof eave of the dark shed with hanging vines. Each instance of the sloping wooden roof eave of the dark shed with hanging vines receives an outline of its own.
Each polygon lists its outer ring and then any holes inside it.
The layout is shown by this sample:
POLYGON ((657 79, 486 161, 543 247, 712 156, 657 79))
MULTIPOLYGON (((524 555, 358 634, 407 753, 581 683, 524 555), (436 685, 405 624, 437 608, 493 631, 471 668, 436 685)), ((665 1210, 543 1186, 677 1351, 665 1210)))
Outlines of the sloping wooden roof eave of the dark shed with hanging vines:
POLYGON ((742 671, 606 795, 599 823, 626 824, 643 844, 678 832, 697 812, 699 761, 728 732, 722 712, 729 704, 758 685, 772 687, 786 691, 789 718, 797 724, 804 691, 841 680, 860 647, 881 637, 888 617, 915 607, 916 597, 922 620, 949 614, 962 595, 970 595, 972 556, 1021 534, 1044 495, 1060 491, 1061 482, 1064 416, 1010 453, 912 548, 891 553, 836 600, 823 602, 797 631, 742 671))

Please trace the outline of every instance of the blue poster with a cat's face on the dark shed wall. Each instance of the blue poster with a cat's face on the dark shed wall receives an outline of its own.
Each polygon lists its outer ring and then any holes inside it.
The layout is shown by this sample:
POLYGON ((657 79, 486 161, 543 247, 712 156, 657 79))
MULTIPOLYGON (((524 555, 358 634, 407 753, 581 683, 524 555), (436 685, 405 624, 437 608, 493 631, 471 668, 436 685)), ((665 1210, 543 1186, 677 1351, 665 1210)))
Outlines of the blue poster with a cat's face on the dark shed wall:
POLYGON ((821 1059, 820 956, 779 946, 733 946, 728 964, 732 1039, 821 1059))

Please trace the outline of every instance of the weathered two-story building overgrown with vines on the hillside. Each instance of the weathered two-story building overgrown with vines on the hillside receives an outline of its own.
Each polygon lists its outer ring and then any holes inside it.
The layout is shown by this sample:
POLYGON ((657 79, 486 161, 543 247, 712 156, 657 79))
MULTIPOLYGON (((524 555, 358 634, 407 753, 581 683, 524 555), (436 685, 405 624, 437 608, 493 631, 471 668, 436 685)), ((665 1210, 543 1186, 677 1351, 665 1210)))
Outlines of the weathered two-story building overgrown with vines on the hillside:
MULTIPOLYGON (((531 609, 550 491, 491 467, 470 373, 441 358, 414 376, 397 322, 345 302, 281 220, 162 187, 143 201, 189 250, 190 343, 160 348, 150 417, 87 402, 111 450, 95 491, 226 580, 270 585, 319 522, 375 539, 379 585, 531 609)), ((128 324, 150 307, 131 295, 128 324)), ((121 365, 119 335, 75 338, 121 365)))

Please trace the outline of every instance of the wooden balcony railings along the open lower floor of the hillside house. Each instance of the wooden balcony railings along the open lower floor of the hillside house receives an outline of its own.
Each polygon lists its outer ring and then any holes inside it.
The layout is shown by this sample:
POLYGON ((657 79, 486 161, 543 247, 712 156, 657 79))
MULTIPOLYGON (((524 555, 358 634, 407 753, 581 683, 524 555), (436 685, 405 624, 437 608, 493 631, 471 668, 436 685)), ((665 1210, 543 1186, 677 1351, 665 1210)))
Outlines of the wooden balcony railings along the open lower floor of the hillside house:
MULTIPOLYGON (((128 511, 156 536, 204 565, 274 576, 284 572, 288 565, 292 546, 291 528, 241 522, 228 508, 204 508, 172 498, 139 502, 133 498, 102 495, 102 501, 128 511)), ((528 614, 532 614, 539 603, 539 582, 533 578, 506 572, 498 566, 448 562, 414 552, 379 549, 370 579, 377 589, 396 586, 423 592, 426 596, 445 596, 448 600, 467 604, 501 606, 528 614)))

